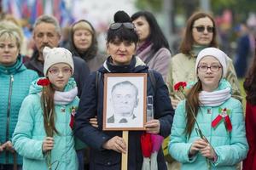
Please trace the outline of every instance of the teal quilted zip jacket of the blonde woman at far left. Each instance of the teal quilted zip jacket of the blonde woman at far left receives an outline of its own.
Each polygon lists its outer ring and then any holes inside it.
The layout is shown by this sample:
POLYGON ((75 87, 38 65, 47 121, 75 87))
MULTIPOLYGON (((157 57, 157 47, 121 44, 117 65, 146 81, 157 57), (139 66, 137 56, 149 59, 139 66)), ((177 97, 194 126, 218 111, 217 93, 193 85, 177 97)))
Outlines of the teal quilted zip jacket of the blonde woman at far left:
MULTIPOLYGON (((31 82, 38 77, 35 71, 27 70, 18 56, 15 65, 0 65, 0 143, 12 140, 18 121, 20 105, 28 94, 31 82)), ((0 152, 0 164, 12 164, 13 154, 0 152)), ((18 156, 18 164, 22 157, 18 156)))

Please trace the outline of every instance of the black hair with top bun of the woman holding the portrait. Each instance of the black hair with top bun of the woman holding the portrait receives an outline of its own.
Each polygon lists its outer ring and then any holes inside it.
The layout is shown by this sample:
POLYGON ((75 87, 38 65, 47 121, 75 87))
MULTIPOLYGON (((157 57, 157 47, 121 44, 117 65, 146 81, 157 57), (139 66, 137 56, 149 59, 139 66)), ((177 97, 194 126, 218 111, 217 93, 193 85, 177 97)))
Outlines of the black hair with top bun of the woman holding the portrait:
MULTIPOLYGON (((118 11, 114 14, 113 17, 114 23, 131 23, 131 18, 125 11, 118 11)), ((132 23, 131 23, 132 24, 132 23)), ((135 29, 126 28, 124 25, 121 25, 117 29, 112 29, 111 26, 108 29, 107 42, 115 42, 116 40, 123 42, 134 42, 137 44, 138 37, 135 29)))

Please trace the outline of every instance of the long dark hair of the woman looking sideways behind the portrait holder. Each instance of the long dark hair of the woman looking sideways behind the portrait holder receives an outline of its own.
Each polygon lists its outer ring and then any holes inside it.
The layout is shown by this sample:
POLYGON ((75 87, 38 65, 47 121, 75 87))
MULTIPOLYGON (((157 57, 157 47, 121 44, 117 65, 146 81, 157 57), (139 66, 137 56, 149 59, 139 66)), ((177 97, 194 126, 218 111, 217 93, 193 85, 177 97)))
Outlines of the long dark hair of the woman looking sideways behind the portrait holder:
POLYGON ((163 32, 161 31, 157 21, 155 20, 154 15, 148 11, 139 11, 135 14, 132 14, 131 20, 137 20, 137 18, 139 17, 144 17, 148 22, 150 34, 147 38, 147 41, 153 43, 152 49, 154 50, 154 52, 157 52, 160 48, 169 49, 169 43, 166 40, 163 32))

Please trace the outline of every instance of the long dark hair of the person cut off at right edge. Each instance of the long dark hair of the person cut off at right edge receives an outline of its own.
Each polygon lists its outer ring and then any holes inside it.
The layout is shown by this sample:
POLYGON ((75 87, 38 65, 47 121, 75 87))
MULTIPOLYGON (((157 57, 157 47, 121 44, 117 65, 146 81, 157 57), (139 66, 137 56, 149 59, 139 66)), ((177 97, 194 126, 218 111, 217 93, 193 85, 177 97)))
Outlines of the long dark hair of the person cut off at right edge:
POLYGON ((247 102, 252 105, 256 105, 256 48, 253 64, 247 71, 245 82, 243 82, 243 88, 247 93, 247 102))

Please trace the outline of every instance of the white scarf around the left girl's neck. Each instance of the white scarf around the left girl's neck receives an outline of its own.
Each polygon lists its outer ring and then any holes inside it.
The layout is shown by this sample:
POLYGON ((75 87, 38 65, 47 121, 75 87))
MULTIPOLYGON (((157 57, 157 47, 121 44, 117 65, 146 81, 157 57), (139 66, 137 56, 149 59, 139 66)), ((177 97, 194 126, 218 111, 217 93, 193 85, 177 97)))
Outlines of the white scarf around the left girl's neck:
POLYGON ((78 88, 75 87, 67 92, 55 91, 55 105, 67 105, 75 99, 78 88))

